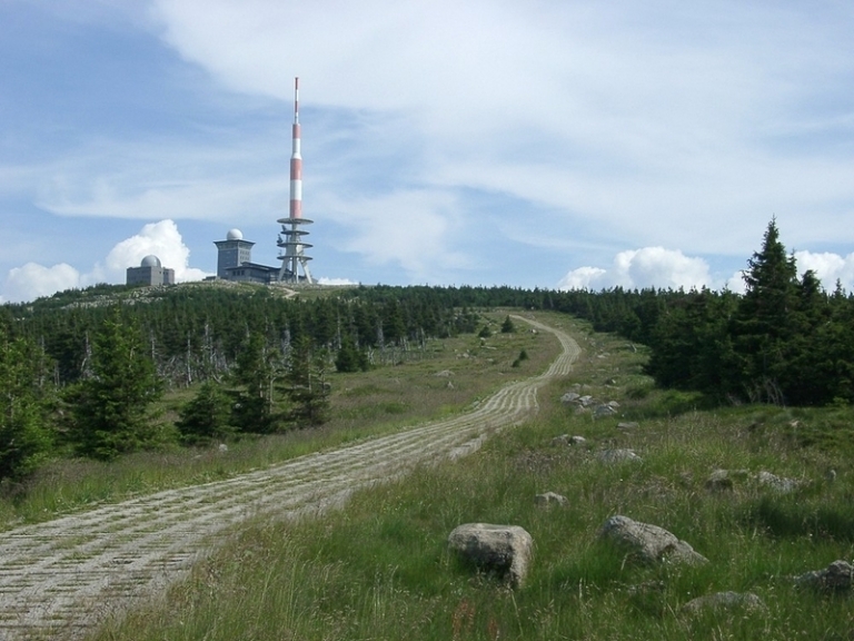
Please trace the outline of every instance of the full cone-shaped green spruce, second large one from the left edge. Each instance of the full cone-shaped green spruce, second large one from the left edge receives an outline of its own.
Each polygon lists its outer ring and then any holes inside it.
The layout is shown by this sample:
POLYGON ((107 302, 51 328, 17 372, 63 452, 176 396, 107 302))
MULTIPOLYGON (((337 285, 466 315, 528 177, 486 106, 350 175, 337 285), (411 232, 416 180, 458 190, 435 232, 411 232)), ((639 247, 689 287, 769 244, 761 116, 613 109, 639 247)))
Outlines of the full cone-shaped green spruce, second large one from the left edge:
POLYGON ((113 308, 93 338, 89 376, 66 394, 80 454, 112 458, 156 443, 149 407, 162 384, 146 347, 133 316, 113 308))

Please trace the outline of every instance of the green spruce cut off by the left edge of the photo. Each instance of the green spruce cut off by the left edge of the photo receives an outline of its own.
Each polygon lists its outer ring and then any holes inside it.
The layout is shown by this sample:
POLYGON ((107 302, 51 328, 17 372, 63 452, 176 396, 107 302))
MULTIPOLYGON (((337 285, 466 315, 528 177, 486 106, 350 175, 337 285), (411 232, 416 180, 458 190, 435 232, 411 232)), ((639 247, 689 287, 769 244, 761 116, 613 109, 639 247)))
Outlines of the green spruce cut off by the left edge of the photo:
POLYGON ((51 451, 47 392, 39 385, 43 362, 41 349, 0 328, 0 481, 26 476, 51 451))

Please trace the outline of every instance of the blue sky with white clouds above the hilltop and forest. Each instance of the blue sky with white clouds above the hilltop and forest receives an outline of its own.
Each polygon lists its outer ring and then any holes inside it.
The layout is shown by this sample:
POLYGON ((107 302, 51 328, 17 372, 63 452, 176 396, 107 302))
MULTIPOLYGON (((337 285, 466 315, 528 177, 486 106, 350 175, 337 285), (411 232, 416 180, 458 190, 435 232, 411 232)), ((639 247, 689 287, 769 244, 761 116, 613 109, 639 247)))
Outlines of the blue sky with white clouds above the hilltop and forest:
POLYGON ((324 283, 729 287, 772 218, 854 290, 848 0, 0 0, 0 302, 279 265, 294 78, 324 283))

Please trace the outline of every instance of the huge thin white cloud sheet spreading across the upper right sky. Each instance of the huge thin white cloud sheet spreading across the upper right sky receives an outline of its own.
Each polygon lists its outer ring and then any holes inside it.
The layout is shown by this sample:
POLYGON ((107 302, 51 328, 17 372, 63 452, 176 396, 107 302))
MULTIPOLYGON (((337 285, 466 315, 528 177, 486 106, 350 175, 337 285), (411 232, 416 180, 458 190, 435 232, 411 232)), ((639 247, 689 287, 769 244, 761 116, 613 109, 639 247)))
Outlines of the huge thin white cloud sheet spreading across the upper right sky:
MULTIPOLYGON (((835 218, 854 206, 850 155, 792 146, 802 131, 851 136, 850 119, 804 109, 852 71, 851 39, 826 14, 734 1, 156 8, 163 39, 232 90, 289 101, 287 60, 304 105, 406 122, 404 174, 419 188, 509 194, 622 243, 704 254, 746 254, 746 223, 772 213, 791 214, 797 238, 840 234, 835 218)), ((369 139, 363 160, 390 160, 389 145, 369 139)), ((396 171, 380 188, 400 188, 396 171)))

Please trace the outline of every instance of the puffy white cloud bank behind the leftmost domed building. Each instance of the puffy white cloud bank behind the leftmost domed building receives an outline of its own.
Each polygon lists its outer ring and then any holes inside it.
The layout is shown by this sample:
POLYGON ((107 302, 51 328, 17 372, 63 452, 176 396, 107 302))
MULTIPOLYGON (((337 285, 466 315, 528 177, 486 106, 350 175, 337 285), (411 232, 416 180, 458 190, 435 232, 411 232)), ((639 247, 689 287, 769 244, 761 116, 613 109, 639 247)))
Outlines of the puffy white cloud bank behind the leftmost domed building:
POLYGON ((3 302, 20 303, 57 292, 88 287, 97 283, 125 283, 128 267, 138 267, 148 255, 160 258, 163 267, 175 269, 177 282, 201 280, 207 273, 189 266, 190 250, 183 244, 178 226, 172 220, 160 220, 142 227, 139 234, 116 245, 103 263, 96 263, 87 273, 70 265, 46 267, 28 263, 14 267, 3 284, 3 302))

